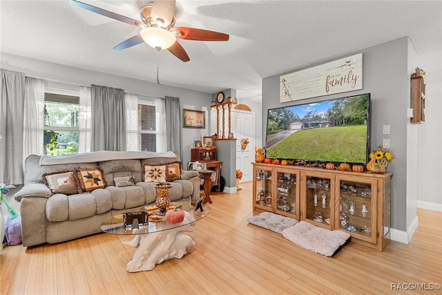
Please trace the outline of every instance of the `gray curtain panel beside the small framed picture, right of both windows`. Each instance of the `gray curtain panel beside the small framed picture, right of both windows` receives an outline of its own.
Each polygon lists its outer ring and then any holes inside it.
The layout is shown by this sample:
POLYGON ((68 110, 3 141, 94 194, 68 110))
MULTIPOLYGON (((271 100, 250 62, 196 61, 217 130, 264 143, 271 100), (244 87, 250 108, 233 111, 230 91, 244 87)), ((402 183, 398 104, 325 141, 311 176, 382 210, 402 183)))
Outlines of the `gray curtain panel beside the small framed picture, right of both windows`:
POLYGON ((181 109, 178 97, 166 96, 166 151, 177 151, 181 155, 181 109))

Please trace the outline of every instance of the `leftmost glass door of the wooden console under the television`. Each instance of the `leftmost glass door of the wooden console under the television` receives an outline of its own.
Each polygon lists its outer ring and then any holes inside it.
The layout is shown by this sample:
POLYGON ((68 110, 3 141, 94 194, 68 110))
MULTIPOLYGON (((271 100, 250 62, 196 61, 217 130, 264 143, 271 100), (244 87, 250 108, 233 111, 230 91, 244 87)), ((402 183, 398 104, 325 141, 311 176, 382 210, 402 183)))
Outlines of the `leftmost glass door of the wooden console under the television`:
POLYGON ((253 202, 253 210, 264 209, 266 211, 273 210, 273 169, 266 166, 253 166, 253 193, 255 194, 253 202))

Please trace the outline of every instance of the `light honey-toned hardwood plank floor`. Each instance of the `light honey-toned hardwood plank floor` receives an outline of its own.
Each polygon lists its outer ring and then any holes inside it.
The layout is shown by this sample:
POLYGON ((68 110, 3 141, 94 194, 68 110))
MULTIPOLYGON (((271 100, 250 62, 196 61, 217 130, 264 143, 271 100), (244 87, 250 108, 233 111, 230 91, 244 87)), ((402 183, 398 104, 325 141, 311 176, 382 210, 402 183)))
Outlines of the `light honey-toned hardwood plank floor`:
POLYGON ((1 294, 392 294, 392 284, 442 283, 441 212, 419 209, 409 245, 392 241, 377 252, 350 242, 327 258, 249 225, 251 182, 241 187, 211 195, 212 211, 189 233, 196 246, 182 259, 128 273, 134 249, 122 241, 131 237, 112 234, 10 246, 0 255, 1 294))

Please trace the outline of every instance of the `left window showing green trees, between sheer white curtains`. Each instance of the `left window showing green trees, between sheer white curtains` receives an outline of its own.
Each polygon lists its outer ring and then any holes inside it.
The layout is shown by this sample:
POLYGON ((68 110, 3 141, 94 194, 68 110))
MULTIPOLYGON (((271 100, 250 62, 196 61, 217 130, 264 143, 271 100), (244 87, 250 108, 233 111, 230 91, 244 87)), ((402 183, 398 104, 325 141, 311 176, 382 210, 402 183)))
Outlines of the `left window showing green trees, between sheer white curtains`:
POLYGON ((44 153, 78 153, 79 97, 45 93, 44 101, 44 153))

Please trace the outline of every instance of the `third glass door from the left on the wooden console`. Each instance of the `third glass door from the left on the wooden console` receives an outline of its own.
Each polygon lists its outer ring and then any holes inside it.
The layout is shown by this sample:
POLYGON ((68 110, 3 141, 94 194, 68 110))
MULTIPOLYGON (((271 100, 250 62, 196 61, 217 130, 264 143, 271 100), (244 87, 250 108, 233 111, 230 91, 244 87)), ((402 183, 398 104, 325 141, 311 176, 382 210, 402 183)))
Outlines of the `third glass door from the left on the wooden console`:
POLYGON ((321 176, 320 173, 309 175, 302 174, 303 206, 302 220, 318 227, 332 228, 334 220, 334 178, 329 175, 321 176))

